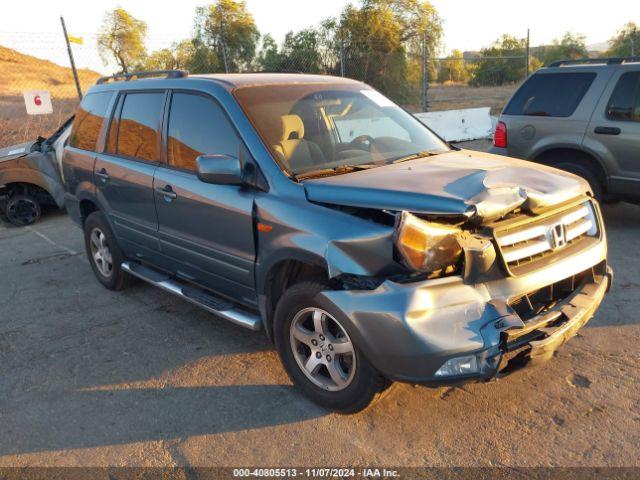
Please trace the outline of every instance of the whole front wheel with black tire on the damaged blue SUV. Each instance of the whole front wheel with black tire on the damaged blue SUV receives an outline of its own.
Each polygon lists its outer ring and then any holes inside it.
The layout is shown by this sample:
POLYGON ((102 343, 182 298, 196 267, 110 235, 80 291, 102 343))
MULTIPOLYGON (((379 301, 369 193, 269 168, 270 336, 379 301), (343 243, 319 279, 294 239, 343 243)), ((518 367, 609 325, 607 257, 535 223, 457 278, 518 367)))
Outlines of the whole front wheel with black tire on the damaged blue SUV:
POLYGON ((340 413, 363 410, 388 388, 349 334, 343 314, 323 301, 319 282, 293 285, 280 298, 274 338, 285 370, 302 393, 340 413))

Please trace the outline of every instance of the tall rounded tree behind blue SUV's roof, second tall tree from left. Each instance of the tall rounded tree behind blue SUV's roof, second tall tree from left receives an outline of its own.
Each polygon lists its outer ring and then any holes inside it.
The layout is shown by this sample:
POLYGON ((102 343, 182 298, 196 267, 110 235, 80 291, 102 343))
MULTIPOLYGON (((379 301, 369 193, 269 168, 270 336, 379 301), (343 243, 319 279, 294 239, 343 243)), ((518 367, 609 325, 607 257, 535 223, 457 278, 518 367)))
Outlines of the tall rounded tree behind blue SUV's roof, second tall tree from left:
POLYGON ((248 68, 256 53, 260 32, 244 1, 217 0, 196 9, 196 57, 199 67, 230 72, 248 68), (210 50, 215 55, 208 54, 210 50))

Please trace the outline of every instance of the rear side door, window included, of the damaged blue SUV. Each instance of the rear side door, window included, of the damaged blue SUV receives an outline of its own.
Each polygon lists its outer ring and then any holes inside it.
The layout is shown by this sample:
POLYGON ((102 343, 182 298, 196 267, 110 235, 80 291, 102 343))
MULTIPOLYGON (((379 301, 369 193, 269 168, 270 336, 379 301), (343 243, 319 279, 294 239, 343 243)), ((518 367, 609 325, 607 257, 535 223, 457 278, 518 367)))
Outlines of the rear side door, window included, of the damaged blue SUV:
POLYGON ((160 162, 166 92, 121 93, 107 148, 94 167, 98 200, 123 250, 144 259, 159 250, 153 175, 160 162))

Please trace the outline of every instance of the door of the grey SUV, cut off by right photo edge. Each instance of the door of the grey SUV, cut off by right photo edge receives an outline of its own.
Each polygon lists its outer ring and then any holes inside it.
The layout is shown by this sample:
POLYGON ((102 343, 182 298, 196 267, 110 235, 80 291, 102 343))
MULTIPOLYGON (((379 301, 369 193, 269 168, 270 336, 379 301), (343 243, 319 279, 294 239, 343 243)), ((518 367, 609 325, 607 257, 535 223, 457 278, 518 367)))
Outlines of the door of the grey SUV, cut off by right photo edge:
POLYGON ((611 187, 637 195, 640 186, 640 69, 619 68, 593 114, 586 142, 610 160, 611 187))

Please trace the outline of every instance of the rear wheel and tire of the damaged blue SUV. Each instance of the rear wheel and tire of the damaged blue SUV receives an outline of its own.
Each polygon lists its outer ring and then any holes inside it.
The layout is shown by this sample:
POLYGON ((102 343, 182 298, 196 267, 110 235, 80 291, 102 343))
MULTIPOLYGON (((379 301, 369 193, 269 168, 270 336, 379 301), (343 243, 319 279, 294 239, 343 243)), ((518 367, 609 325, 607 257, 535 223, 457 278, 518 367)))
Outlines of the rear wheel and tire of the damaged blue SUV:
POLYGON ((132 277, 122 270, 124 255, 101 212, 93 212, 84 222, 87 258, 98 281, 109 290, 122 290, 132 277))

